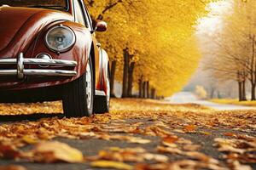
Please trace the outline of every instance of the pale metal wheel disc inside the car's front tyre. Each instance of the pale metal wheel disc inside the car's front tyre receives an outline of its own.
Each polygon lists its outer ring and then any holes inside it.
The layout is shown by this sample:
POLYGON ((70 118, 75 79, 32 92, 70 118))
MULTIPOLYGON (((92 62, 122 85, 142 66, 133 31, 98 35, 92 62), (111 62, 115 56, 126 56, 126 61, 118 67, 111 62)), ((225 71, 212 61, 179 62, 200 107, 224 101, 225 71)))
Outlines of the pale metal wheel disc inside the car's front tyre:
POLYGON ((88 62, 86 66, 86 101, 87 101, 88 109, 90 109, 91 107, 91 98, 92 98, 91 70, 90 70, 90 63, 88 62))

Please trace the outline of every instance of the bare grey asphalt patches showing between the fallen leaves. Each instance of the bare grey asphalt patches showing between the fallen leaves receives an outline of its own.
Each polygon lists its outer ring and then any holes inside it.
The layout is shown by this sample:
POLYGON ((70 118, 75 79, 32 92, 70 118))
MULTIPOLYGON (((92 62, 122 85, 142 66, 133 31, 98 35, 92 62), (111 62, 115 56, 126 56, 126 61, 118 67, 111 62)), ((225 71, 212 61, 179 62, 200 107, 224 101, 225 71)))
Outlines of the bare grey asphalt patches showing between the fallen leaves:
MULTIPOLYGON (((33 120, 35 117, 33 117, 33 120)), ((145 124, 151 124, 154 121, 148 119, 134 119, 129 120, 131 123, 144 122, 145 124)), ((6 123, 6 122, 4 122, 6 123)), ((9 122, 15 123, 15 122, 9 122)), ((218 152, 217 148, 214 147, 214 139, 216 138, 226 138, 224 133, 238 133, 230 128, 200 128, 200 131, 211 133, 211 135, 204 135, 201 133, 175 133, 178 138, 189 139, 193 142, 193 144, 200 144, 202 147, 199 150, 201 153, 206 154, 207 156, 212 156, 212 158, 220 161, 221 164, 224 164, 224 160, 222 157, 224 156, 222 153, 218 152)), ((239 132, 241 133, 241 132, 239 132)), ((256 135, 256 133, 244 133, 250 135, 256 135)), ((143 139, 149 139, 151 142, 149 144, 131 144, 125 141, 115 141, 115 140, 104 140, 104 139, 64 139, 64 138, 56 138, 54 140, 58 140, 60 142, 69 144, 73 148, 76 148, 83 152, 84 156, 96 156, 100 150, 104 150, 109 147, 119 147, 119 148, 135 148, 142 147, 150 153, 157 154, 155 148, 160 144, 159 137, 145 136, 145 135, 136 135, 137 137, 141 137, 143 139)), ((24 148, 24 150, 30 149, 30 147, 24 148)), ((171 161, 179 161, 187 159, 186 156, 179 155, 170 155, 168 156, 171 161)), ((152 163, 148 161, 147 163, 152 163)), ((0 165, 20 165, 26 167, 28 170, 108 170, 112 168, 93 168, 90 167, 89 163, 79 163, 79 164, 69 164, 69 163, 54 163, 54 164, 45 164, 45 163, 36 163, 29 161, 12 161, 12 160, 2 160, 0 159, 0 165)), ((256 164, 251 164, 253 169, 256 169, 256 164)), ((173 169, 175 170, 175 169, 173 169)))

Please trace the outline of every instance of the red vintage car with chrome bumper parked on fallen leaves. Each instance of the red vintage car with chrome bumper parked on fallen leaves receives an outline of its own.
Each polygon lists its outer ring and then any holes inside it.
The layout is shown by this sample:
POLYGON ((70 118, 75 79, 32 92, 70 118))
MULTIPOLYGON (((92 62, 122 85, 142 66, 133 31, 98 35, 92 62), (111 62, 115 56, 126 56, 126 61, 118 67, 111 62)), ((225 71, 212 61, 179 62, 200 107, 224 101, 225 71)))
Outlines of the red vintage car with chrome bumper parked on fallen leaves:
POLYGON ((106 31, 83 0, 0 1, 0 102, 62 100, 67 117, 109 110, 106 31))

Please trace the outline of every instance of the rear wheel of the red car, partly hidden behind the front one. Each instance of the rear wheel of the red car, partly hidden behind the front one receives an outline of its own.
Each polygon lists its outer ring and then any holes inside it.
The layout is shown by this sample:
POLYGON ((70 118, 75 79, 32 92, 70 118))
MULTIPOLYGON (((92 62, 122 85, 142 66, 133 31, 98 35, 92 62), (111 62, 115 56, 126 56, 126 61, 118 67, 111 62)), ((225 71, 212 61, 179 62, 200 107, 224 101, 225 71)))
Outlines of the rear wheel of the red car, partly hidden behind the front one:
POLYGON ((108 113, 110 105, 110 81, 107 74, 107 94, 104 96, 96 95, 94 99, 94 112, 98 114, 108 113))

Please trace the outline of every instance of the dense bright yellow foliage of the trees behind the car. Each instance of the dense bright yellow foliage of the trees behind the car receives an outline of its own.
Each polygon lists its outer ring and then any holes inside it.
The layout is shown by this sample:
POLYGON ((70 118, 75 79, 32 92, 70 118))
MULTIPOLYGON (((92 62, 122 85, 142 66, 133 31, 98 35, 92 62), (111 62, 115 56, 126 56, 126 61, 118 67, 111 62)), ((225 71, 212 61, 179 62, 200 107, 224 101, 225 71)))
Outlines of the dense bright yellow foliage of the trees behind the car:
POLYGON ((123 50, 136 62, 134 86, 143 77, 168 96, 183 88, 201 54, 195 39, 197 20, 207 14, 210 0, 85 0, 94 19, 108 22, 98 34, 111 60, 118 61, 116 79, 123 76, 123 50))

